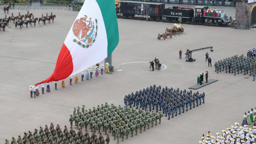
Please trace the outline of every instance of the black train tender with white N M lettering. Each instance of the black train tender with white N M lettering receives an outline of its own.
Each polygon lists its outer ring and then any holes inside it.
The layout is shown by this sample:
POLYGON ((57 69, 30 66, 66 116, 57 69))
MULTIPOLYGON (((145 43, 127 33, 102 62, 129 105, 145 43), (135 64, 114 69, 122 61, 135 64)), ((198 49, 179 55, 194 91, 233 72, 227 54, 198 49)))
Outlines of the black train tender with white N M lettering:
POLYGON ((178 20, 179 17, 181 17, 182 20, 185 20, 186 22, 190 22, 190 21, 193 21, 194 9, 173 6, 173 7, 166 8, 164 10, 164 16, 166 20, 176 21, 178 20))

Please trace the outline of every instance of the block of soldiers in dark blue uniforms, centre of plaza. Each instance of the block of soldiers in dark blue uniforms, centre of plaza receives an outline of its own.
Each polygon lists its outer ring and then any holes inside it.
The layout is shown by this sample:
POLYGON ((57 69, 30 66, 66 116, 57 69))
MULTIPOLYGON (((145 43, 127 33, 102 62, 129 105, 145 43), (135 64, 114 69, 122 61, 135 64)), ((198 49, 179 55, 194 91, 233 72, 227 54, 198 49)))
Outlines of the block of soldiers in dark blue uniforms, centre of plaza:
POLYGON ((170 114, 172 114, 172 118, 174 116, 174 111, 175 111, 175 116, 177 116, 178 109, 179 109, 179 115, 181 114, 181 108, 183 110, 182 113, 185 111, 185 106, 186 106, 186 111, 188 111, 188 105, 190 109, 192 108, 192 103, 193 103, 193 108, 195 108, 195 102, 196 102, 196 107, 198 105, 201 105, 201 101, 203 100, 202 103, 205 102, 205 93, 199 94, 199 92, 194 92, 192 93, 192 90, 186 91, 186 89, 179 90, 179 88, 173 89, 173 87, 168 88, 167 86, 165 88, 162 88, 161 90, 161 85, 156 87, 150 86, 147 87, 146 89, 143 88, 143 90, 136 91, 135 94, 132 92, 132 94, 125 95, 124 97, 124 104, 126 107, 130 106, 130 108, 135 107, 136 104, 136 109, 138 109, 138 105, 140 104, 140 108, 142 110, 145 109, 145 112, 147 111, 147 108, 149 107, 149 111, 151 111, 151 106, 153 107, 152 110, 156 108, 156 112, 158 112, 158 106, 159 106, 159 111, 163 111, 163 114, 165 113, 165 116, 167 117, 168 113, 168 119, 170 119, 170 114), (200 102, 200 103, 199 103, 200 102))

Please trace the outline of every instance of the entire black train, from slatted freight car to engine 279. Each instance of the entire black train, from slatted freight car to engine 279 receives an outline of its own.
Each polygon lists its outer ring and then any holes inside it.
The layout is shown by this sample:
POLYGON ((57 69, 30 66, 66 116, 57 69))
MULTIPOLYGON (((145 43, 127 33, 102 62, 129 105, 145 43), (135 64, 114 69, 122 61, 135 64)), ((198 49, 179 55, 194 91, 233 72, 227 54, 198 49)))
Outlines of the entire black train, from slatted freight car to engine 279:
POLYGON ((209 23, 209 24, 231 24, 231 19, 227 13, 221 9, 221 15, 219 17, 204 16, 204 10, 208 9, 208 6, 195 6, 193 8, 184 8, 173 6, 165 8, 165 4, 161 3, 146 3, 146 2, 131 2, 122 1, 120 11, 123 17, 134 17, 135 15, 145 16, 148 15, 150 19, 163 19, 176 21, 179 17, 182 21, 196 22, 196 23, 209 23))

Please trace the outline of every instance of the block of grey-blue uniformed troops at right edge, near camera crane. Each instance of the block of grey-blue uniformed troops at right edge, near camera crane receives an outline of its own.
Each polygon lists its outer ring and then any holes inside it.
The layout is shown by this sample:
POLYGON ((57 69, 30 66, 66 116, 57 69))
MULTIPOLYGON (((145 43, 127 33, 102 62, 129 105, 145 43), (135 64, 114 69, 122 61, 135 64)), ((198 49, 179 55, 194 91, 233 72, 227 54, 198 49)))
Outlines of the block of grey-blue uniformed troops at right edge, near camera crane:
POLYGON ((248 71, 250 71, 250 75, 253 75, 253 81, 255 79, 255 56, 250 56, 248 55, 248 57, 245 57, 244 55, 238 56, 232 56, 231 58, 226 58, 223 60, 219 60, 218 63, 215 62, 214 66, 215 66, 215 71, 217 71, 217 74, 219 72, 224 71, 224 69, 226 70, 225 73, 231 73, 234 75, 239 74, 239 72, 243 75, 248 74, 248 71), (243 70, 243 71, 242 71, 243 70), (231 72, 230 72, 231 71, 231 72))

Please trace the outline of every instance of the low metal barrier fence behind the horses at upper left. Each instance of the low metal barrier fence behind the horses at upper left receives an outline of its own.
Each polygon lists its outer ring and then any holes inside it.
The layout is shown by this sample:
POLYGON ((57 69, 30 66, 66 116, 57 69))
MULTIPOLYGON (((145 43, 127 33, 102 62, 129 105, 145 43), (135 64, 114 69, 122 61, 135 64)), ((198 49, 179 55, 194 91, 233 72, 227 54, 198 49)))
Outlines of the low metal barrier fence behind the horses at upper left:
MULTIPOLYGON (((5 5, 0 5, 0 9, 3 9, 5 5)), ((39 9, 64 9, 68 10, 68 6, 63 6, 63 5, 15 5, 14 9, 34 9, 34 10, 39 10, 39 9)), ((71 7, 72 9, 72 7, 71 7)))

